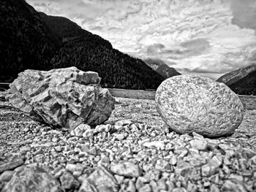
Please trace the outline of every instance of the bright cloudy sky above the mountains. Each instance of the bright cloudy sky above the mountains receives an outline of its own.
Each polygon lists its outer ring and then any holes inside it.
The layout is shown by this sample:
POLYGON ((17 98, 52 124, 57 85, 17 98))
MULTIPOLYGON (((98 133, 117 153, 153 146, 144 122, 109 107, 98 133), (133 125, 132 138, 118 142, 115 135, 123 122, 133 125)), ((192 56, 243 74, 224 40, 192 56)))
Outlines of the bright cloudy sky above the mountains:
POLYGON ((216 80, 256 63, 255 0, 26 0, 137 58, 216 80))

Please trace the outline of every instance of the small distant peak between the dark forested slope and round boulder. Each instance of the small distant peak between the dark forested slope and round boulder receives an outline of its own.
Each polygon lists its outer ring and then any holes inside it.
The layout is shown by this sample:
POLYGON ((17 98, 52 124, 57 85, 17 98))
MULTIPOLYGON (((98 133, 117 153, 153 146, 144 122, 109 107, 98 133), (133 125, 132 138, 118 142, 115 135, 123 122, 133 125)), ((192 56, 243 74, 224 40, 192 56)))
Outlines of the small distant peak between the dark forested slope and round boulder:
POLYGON ((158 72, 165 79, 176 76, 176 75, 180 75, 180 73, 177 72, 176 69, 174 69, 173 67, 167 66, 167 64, 165 64, 165 62, 162 61, 161 59, 147 58, 147 59, 144 59, 144 61, 148 66, 150 66, 152 69, 158 72))

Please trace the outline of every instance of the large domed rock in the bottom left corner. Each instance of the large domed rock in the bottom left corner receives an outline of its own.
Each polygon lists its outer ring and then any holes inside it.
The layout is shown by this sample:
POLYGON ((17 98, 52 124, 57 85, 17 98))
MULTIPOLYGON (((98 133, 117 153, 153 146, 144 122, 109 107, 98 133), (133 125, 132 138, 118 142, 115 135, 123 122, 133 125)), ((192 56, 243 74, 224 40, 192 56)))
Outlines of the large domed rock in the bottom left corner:
POLYGON ((15 169, 12 179, 4 185, 2 192, 60 192, 59 182, 39 166, 20 166, 15 169))

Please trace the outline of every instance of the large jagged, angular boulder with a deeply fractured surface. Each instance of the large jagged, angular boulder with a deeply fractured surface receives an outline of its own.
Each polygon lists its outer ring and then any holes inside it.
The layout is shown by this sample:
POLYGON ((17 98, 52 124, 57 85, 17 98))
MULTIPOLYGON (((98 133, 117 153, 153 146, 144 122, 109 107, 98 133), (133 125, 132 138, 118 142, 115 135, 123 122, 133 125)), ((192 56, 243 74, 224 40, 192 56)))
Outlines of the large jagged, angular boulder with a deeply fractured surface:
POLYGON ((73 129, 103 123, 114 109, 113 96, 96 72, 75 67, 48 72, 26 70, 10 85, 7 99, 32 119, 73 129))

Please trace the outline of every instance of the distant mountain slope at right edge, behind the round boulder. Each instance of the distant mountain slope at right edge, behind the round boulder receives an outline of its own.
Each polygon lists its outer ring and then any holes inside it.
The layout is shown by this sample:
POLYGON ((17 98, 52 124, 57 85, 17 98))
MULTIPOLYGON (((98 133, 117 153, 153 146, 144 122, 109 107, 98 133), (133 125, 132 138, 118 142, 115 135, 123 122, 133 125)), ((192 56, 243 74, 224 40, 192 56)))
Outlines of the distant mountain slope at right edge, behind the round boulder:
POLYGON ((256 64, 224 74, 217 82, 224 82, 239 95, 256 96, 256 64))

